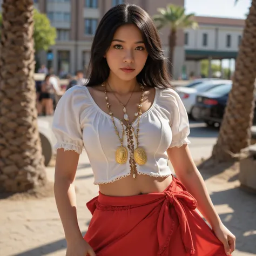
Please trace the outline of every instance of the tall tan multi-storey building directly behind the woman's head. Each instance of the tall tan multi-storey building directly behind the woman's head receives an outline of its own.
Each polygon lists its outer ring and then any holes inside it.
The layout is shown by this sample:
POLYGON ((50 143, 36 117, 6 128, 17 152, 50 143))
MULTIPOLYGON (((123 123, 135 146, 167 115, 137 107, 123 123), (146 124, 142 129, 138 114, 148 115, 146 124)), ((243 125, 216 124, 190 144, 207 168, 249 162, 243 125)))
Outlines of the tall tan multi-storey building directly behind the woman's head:
MULTIPOLYGON (((52 66, 56 73, 75 73, 84 70, 90 61, 93 35, 100 19, 112 6, 125 3, 126 0, 35 0, 35 7, 45 13, 52 26, 57 29, 56 45, 48 52, 39 54, 41 64, 52 66)), ((172 0, 174 4, 184 6, 184 0, 172 0)), ((157 14, 157 8, 166 7, 170 0, 129 0, 131 4, 142 6, 150 15, 157 14)), ((168 56, 169 30, 161 30, 160 37, 168 56)), ((184 63, 184 35, 178 33, 175 59, 177 70, 184 63), (181 57, 181 58, 180 58, 181 57), (178 68, 179 64, 179 68, 178 68)), ((175 70, 174 70, 175 71, 175 70)))

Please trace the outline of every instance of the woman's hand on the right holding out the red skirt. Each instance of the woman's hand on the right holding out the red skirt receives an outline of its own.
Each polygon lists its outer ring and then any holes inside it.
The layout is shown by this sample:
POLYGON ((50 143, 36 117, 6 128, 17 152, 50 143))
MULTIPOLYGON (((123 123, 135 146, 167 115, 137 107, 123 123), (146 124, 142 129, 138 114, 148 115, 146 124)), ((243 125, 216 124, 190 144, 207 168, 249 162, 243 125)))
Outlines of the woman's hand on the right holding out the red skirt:
POLYGON ((235 250, 235 236, 224 226, 223 223, 213 228, 216 237, 223 243, 227 255, 235 250))

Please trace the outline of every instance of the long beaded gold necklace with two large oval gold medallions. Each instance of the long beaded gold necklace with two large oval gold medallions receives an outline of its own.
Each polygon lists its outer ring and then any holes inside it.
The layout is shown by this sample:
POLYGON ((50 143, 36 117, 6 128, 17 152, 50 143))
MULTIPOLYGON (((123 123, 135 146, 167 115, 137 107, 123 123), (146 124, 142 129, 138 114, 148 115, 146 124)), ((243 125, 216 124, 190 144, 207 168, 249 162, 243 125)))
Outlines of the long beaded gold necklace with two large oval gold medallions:
MULTIPOLYGON (((106 84, 103 83, 102 86, 104 86, 104 92, 105 92, 105 99, 106 99, 106 106, 109 109, 109 114, 112 118, 112 122, 114 125, 114 130, 116 131, 116 134, 119 138, 120 144, 121 146, 118 147, 118 149, 116 150, 116 162, 118 164, 124 164, 126 163, 127 159, 128 159, 128 152, 126 147, 123 146, 123 141, 124 141, 124 134, 125 134, 125 128, 124 128, 124 123, 123 120, 120 120, 122 127, 123 127, 123 132, 122 132, 122 138, 119 136, 119 132, 117 130, 117 126, 116 123, 114 122, 114 117, 113 117, 113 113, 110 111, 110 106, 111 104, 109 103, 109 98, 107 97, 107 92, 106 92, 106 84)), ((132 157, 132 160, 134 159, 134 161, 138 164, 138 165, 144 165, 147 162, 147 156, 146 156, 146 152, 142 147, 139 147, 139 141, 138 141, 138 137, 139 137, 139 122, 140 122, 140 116, 142 115, 142 102, 143 102, 143 97, 144 97, 144 86, 142 84, 140 84, 140 89, 142 90, 142 96, 140 97, 140 103, 138 104, 138 111, 134 113, 134 119, 132 121, 131 124, 129 124, 128 120, 126 120, 127 122, 127 131, 128 130, 133 130, 134 129, 132 127, 133 123, 135 122, 136 118, 138 117, 138 124, 137 124, 137 132, 134 132, 134 136, 136 138, 136 144, 137 144, 137 148, 136 150, 134 150, 134 152, 131 152, 132 146, 129 145, 129 149, 130 149, 130 154, 132 157)), ((130 141, 130 140, 129 140, 130 141)), ((134 171, 133 168, 133 178, 136 178, 136 173, 134 171)))

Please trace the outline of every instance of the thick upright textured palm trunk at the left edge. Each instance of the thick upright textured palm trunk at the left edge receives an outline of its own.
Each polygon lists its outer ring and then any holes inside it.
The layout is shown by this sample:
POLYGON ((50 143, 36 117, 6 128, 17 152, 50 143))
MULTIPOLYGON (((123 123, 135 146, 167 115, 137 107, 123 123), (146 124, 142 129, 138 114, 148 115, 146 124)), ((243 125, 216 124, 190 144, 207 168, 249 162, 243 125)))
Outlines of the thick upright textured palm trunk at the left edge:
POLYGON ((0 44, 0 189, 46 184, 37 128, 33 0, 4 0, 0 44))

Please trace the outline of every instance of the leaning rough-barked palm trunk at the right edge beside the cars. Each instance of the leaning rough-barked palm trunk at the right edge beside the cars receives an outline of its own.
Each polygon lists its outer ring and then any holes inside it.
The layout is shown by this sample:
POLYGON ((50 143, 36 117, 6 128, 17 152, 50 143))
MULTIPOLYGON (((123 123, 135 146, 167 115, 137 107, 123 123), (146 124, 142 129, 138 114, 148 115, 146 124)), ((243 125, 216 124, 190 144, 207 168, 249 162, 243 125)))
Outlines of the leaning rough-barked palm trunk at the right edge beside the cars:
POLYGON ((212 157, 228 161, 250 145, 256 77, 256 0, 252 1, 235 64, 233 87, 212 157))

